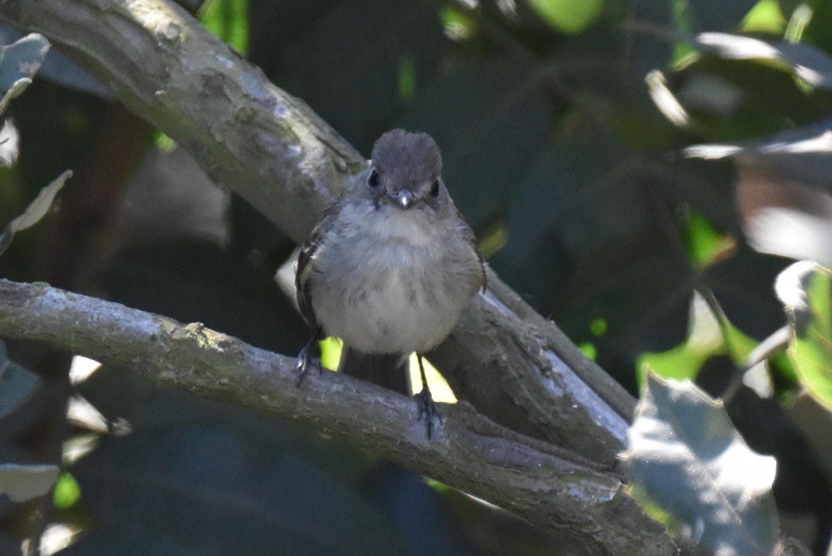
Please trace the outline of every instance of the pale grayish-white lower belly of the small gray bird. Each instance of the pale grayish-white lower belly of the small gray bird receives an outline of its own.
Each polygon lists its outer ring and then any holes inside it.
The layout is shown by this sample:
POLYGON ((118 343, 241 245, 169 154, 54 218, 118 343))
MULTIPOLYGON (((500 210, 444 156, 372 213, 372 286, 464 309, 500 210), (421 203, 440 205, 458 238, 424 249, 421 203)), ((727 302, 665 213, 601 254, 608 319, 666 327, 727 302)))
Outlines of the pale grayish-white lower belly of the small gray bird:
POLYGON ((404 264, 387 253, 342 268, 339 290, 313 285, 324 332, 365 353, 424 352, 444 340, 470 293, 443 283, 435 262, 409 255, 404 264))

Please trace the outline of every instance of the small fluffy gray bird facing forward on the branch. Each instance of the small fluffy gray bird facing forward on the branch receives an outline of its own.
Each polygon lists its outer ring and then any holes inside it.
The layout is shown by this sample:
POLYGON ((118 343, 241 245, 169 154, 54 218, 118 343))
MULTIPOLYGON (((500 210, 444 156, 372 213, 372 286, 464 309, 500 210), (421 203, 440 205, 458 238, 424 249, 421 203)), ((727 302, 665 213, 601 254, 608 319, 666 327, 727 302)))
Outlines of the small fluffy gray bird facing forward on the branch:
MULTIPOLYGON (((410 393, 416 352, 419 418, 431 434, 435 407, 421 354, 436 347, 482 287, 473 231, 442 181, 442 154, 425 133, 384 133, 369 168, 324 211, 298 256, 298 305, 313 331, 301 350, 303 380, 318 340, 344 341, 339 371, 410 393)), ((319 362, 316 363, 319 365, 319 362)))

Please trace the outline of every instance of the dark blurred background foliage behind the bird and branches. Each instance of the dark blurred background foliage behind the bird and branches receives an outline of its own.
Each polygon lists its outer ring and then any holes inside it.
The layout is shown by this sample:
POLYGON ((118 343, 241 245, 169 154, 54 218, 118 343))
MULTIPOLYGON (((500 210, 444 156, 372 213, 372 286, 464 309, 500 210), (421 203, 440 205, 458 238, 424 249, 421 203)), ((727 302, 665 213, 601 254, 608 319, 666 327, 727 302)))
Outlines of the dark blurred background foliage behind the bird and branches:
MULTIPOLYGON (((494 270, 634 394, 647 365, 721 394, 786 324, 773 288, 783 255, 832 260, 775 249, 754 219, 775 206, 829 221, 805 191, 828 190, 828 154, 766 150, 829 127, 829 2, 215 0, 199 13, 359 151, 392 127, 431 133, 494 270), (790 49, 743 59, 740 43, 701 32, 790 49), (685 154, 713 143, 737 156, 685 154)), ((170 141, 54 52, 9 113, 22 156, 0 173, 0 222, 67 167, 76 177, 46 225, 15 238, 0 276, 299 350, 305 325, 272 281, 294 246, 170 141)), ((294 425, 126 373, 69 385, 66 355, 7 347, 45 383, 3 421, 3 449, 54 461, 68 437, 97 446, 72 459, 59 489, 70 494, 45 518, 83 529, 65 554, 577 554, 294 425), (58 426, 71 394, 131 434, 58 426)), ((743 386, 727 410, 778 460, 781 526, 822 554, 832 423, 799 395, 785 355, 770 373, 772 396, 743 386)), ((29 509, 0 506, 3 540, 29 509)))

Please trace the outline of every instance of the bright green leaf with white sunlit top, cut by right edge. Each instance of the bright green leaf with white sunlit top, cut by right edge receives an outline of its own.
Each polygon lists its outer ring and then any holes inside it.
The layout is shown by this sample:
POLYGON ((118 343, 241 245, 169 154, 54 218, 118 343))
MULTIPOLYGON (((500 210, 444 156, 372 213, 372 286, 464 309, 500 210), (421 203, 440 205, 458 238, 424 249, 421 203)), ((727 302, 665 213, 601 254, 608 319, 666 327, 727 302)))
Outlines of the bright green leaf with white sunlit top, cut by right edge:
POLYGON ((775 290, 789 319, 789 359, 800 384, 832 410, 832 281, 830 271, 811 261, 789 266, 775 290))

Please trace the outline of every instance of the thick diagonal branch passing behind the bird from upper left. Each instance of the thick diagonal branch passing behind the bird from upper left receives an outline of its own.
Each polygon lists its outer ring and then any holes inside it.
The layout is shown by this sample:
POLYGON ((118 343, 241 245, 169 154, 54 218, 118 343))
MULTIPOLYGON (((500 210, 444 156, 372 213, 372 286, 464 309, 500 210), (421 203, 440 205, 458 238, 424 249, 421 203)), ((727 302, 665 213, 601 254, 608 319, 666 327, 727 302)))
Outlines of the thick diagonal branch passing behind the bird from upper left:
MULTIPOLYGON (((4 0, 295 241, 366 162, 303 102, 165 0, 4 0)), ((431 358, 458 397, 613 465, 634 402, 497 276, 431 358)))

